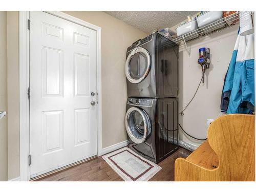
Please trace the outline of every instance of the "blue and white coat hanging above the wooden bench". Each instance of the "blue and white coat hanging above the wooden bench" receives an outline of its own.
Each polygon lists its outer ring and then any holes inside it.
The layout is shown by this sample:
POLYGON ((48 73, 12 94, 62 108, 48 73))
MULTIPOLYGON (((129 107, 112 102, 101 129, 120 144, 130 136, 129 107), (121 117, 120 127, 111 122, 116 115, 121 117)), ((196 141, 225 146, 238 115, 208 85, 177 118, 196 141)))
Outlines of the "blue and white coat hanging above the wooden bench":
POLYGON ((225 78, 222 111, 227 103, 227 114, 254 111, 254 34, 238 34, 225 78))

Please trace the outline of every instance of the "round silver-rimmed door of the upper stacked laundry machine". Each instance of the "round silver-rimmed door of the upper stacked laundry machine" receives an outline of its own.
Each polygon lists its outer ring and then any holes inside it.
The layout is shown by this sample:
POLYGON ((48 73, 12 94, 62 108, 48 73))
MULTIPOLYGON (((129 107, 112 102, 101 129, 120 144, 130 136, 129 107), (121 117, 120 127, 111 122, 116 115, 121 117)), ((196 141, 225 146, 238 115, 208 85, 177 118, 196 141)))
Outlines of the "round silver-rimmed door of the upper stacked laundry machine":
POLYGON ((141 82, 148 74, 151 66, 150 54, 144 48, 131 51, 126 59, 125 74, 132 83, 141 82))

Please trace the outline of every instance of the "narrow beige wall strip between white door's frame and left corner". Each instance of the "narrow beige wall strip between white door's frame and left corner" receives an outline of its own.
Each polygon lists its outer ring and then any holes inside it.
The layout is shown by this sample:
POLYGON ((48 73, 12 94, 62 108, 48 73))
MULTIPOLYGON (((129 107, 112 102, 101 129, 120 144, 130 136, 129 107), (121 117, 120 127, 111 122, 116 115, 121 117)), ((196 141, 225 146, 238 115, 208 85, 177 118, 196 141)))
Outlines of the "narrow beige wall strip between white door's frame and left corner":
POLYGON ((8 179, 19 177, 18 11, 7 11, 8 179))

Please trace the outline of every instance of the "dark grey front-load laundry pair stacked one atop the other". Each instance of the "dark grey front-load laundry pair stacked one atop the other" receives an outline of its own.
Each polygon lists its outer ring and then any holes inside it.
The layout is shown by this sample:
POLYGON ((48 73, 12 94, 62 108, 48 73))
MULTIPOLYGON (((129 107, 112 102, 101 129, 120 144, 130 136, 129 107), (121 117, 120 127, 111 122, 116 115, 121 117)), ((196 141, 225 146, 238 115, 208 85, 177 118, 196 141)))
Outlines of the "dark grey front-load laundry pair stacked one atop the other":
POLYGON ((158 32, 127 48, 129 147, 155 163, 178 150, 178 60, 178 45, 158 32))

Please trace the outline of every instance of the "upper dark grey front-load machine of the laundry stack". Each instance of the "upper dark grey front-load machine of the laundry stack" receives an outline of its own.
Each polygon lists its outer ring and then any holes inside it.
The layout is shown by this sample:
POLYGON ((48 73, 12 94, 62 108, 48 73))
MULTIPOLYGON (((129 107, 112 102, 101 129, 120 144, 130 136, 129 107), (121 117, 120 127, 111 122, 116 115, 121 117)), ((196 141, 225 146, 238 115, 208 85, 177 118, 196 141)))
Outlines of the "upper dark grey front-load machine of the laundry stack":
POLYGON ((179 47, 155 32, 127 48, 128 97, 177 97, 179 47))

